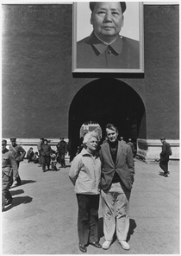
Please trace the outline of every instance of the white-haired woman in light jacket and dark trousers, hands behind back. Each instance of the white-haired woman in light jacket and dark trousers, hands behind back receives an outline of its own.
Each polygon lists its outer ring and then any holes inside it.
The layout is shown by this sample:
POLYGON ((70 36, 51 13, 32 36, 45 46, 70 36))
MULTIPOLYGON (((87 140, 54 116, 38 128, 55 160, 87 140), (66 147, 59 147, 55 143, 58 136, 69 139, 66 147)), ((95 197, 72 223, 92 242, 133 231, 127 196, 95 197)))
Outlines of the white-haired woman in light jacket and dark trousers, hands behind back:
POLYGON ((78 200, 79 249, 86 253, 89 244, 101 248, 98 240, 98 207, 101 162, 97 154, 97 131, 84 136, 84 148, 73 159, 69 177, 75 186, 78 200))

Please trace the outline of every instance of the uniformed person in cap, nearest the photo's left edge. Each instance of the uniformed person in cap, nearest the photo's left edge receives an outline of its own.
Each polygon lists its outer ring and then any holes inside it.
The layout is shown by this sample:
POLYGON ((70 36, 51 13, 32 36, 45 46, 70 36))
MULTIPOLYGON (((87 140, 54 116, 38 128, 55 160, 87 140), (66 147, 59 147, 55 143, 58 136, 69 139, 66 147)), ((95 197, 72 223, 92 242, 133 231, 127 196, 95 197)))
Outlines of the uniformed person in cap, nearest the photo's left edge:
POLYGON ((7 140, 2 140, 2 210, 5 204, 12 202, 12 195, 9 192, 11 179, 16 180, 18 176, 16 159, 13 153, 6 148, 7 140))

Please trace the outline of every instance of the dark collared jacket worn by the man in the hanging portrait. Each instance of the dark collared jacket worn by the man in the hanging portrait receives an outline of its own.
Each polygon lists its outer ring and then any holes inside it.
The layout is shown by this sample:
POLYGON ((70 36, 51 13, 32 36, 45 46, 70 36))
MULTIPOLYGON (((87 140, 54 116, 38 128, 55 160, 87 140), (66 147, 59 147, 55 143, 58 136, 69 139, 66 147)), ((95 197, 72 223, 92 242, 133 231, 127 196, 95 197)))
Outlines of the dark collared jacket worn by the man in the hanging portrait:
POLYGON ((140 68, 140 42, 119 35, 110 45, 92 34, 77 43, 77 68, 140 68))

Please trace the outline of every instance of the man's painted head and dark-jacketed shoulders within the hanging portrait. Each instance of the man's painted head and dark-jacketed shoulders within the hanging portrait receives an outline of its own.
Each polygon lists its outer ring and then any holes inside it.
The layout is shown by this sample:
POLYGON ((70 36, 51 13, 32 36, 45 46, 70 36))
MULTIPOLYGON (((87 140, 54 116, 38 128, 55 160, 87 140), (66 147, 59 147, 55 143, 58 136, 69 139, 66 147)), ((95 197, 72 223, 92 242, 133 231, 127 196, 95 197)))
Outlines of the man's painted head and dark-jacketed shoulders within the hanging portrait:
POLYGON ((140 42, 119 35, 126 3, 90 2, 90 10, 93 32, 77 43, 77 67, 140 68, 140 42))

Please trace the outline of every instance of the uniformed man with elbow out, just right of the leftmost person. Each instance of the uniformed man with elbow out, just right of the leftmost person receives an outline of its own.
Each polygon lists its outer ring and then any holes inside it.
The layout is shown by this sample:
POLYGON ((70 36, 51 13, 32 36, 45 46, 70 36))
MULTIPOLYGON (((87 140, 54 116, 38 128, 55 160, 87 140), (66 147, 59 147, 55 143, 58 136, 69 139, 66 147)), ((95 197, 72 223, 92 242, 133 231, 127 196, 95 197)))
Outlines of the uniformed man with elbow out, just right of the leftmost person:
POLYGON ((22 184, 21 177, 19 175, 19 167, 20 167, 20 162, 23 161, 26 151, 22 148, 21 145, 16 144, 16 138, 10 138, 11 145, 9 145, 9 150, 12 151, 16 163, 17 163, 17 170, 18 170, 18 176, 16 176, 16 185, 19 186, 22 184))

